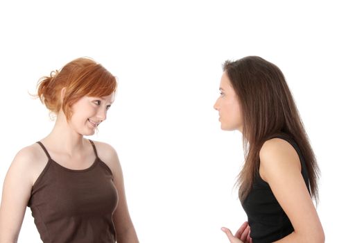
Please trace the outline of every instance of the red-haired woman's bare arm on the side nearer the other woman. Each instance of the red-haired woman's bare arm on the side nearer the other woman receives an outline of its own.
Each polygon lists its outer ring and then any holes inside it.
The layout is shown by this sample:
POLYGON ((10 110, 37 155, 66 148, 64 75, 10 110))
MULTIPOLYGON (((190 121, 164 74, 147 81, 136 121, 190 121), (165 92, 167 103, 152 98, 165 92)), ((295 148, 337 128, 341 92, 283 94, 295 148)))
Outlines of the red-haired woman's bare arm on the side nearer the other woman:
POLYGON ((112 146, 108 144, 98 142, 97 145, 101 151, 101 160, 106 162, 112 170, 112 174, 114 175, 114 185, 119 194, 119 203, 116 207, 113 217, 114 226, 116 229, 116 242, 139 243, 137 233, 135 232, 135 228, 129 215, 128 205, 126 203, 123 171, 121 170, 117 153, 112 148, 112 146), (105 160, 103 158, 105 158, 105 160))

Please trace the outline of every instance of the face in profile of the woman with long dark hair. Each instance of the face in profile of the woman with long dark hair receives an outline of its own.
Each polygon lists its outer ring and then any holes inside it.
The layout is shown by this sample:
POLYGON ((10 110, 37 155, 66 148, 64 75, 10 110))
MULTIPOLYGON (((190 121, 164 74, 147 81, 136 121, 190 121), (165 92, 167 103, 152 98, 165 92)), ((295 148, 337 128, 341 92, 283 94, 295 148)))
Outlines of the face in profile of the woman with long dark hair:
POLYGON ((226 72, 221 76, 220 97, 214 104, 215 110, 218 111, 221 129, 225 131, 243 131, 243 119, 241 117, 241 108, 238 96, 227 76, 226 72))

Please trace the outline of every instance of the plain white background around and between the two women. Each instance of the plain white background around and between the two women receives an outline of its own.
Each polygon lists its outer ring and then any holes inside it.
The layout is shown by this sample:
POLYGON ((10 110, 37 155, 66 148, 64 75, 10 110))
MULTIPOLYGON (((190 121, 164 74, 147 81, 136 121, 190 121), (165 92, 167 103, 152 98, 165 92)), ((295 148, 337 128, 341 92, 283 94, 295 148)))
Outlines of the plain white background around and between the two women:
MULTIPOLYGON (((359 1, 1 1, 1 184, 17 151, 53 127, 28 92, 89 56, 119 78, 92 139, 119 153, 139 240, 228 242, 220 227, 246 220, 233 187, 243 151, 212 106, 222 63, 257 55, 285 74, 311 139, 327 242, 358 242, 363 22, 359 1)), ((19 242, 40 242, 28 209, 19 242)))

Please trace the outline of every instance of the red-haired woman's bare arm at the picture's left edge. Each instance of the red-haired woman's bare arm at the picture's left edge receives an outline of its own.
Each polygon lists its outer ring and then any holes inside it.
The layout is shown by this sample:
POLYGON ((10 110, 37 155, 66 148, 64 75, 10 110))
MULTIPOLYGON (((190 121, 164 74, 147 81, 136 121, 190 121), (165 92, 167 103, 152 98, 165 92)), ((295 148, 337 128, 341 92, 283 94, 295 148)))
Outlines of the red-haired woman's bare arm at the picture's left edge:
POLYGON ((31 170, 32 149, 17 153, 3 183, 0 206, 0 242, 17 242, 28 199, 33 185, 31 170))

